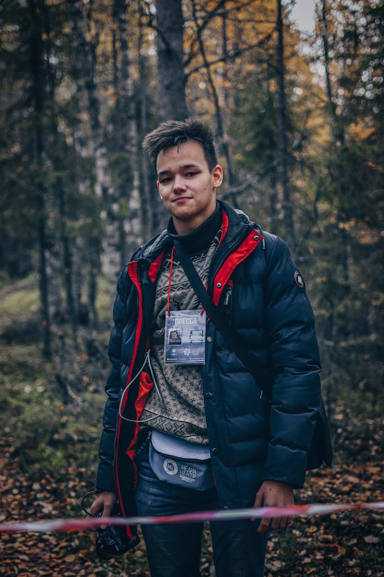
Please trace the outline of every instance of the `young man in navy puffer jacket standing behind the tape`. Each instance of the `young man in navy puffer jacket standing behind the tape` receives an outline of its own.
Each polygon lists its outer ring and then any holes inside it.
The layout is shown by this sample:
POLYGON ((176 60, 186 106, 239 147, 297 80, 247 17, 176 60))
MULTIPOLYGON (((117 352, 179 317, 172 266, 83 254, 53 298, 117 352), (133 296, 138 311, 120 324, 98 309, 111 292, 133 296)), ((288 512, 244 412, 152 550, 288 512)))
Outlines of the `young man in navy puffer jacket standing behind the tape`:
MULTIPOLYGON (((99 494, 91 512, 102 509, 108 516, 116 499, 124 516, 288 507, 306 469, 332 459, 302 276, 281 239, 216 200, 223 171, 210 129, 193 120, 165 122, 143 147, 170 219, 165 231, 136 250, 117 284, 99 494), (257 358, 260 382, 214 323, 199 319, 204 311, 175 245, 191 258, 220 315, 257 358), (199 328, 203 323, 199 364, 191 362, 191 348, 172 358, 183 347, 168 351, 169 319, 200 323, 199 328), (270 395, 261 393, 265 373, 270 395), (177 470, 172 453, 166 461, 169 482, 158 478, 149 462, 155 433, 187 441, 187 454, 188 447, 191 454, 207 449, 212 486, 171 484, 177 470)), ((263 575, 268 531, 289 523, 285 515, 260 523, 212 522, 218 577, 263 575)), ((152 577, 199 575, 202 524, 142 530, 152 577)))

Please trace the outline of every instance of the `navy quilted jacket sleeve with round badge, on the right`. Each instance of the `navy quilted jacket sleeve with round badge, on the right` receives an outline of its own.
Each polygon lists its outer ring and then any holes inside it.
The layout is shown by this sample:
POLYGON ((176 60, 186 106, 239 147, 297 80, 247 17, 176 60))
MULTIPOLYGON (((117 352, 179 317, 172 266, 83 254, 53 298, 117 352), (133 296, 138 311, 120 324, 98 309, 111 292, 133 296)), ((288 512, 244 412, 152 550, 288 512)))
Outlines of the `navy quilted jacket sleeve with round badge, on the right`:
POLYGON ((265 285, 265 324, 273 379, 263 479, 301 488, 320 410, 320 358, 314 316, 287 245, 275 237, 265 285))

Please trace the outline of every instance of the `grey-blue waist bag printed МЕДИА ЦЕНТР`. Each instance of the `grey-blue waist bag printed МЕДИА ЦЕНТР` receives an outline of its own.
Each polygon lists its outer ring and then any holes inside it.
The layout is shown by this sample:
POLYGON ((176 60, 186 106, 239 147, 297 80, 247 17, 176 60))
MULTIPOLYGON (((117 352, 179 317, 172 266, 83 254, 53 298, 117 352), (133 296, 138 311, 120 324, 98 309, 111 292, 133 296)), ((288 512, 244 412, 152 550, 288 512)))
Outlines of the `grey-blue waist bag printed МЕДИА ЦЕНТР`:
POLYGON ((197 491, 214 486, 208 445, 189 443, 154 429, 149 445, 149 464, 158 479, 172 485, 197 491))

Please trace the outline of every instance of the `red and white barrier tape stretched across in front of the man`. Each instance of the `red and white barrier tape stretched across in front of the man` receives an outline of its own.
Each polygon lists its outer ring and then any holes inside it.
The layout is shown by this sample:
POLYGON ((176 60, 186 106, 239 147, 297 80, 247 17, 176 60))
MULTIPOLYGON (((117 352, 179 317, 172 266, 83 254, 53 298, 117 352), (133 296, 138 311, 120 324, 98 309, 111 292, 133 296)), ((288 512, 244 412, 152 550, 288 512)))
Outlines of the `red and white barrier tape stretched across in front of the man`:
POLYGON ((263 517, 302 517, 326 515, 336 511, 362 511, 362 509, 384 509, 384 501, 378 503, 340 503, 292 505, 292 507, 260 507, 249 509, 222 509, 168 516, 146 517, 90 517, 73 519, 52 519, 21 523, 0 523, 0 533, 50 533, 52 531, 73 531, 94 529, 100 525, 137 525, 155 523, 193 523, 203 520, 229 521, 234 519, 258 519, 263 517))

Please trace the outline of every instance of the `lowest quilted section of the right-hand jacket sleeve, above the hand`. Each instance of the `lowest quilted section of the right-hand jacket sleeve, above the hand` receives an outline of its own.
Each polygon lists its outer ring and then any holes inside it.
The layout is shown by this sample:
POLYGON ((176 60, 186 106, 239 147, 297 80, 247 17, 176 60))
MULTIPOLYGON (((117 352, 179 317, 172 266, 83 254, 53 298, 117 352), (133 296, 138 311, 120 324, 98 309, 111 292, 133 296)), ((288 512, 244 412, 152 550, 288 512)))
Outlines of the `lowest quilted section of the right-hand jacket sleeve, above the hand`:
POLYGON ((307 454, 301 449, 269 445, 263 481, 281 481, 302 489, 305 482, 307 454))

